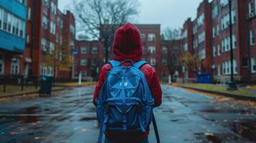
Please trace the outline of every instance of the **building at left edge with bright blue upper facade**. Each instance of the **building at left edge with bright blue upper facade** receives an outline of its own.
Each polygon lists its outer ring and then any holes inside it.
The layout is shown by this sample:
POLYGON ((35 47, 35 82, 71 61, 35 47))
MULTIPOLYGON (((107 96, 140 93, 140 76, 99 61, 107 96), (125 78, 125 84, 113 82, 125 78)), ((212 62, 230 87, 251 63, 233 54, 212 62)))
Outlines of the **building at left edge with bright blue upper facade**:
POLYGON ((0 75, 23 74, 27 0, 0 1, 0 75))

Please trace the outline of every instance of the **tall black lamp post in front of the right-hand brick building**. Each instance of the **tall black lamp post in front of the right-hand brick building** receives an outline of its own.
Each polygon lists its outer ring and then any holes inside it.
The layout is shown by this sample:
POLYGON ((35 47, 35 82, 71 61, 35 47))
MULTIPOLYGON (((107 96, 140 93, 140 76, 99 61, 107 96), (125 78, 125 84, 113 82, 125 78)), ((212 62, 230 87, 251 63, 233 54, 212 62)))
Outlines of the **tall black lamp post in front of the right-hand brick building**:
POLYGON ((232 0, 229 0, 229 36, 230 36, 230 62, 231 62, 231 74, 230 81, 228 83, 228 90, 237 90, 237 84, 234 82, 234 53, 233 53, 233 40, 232 40, 232 0))

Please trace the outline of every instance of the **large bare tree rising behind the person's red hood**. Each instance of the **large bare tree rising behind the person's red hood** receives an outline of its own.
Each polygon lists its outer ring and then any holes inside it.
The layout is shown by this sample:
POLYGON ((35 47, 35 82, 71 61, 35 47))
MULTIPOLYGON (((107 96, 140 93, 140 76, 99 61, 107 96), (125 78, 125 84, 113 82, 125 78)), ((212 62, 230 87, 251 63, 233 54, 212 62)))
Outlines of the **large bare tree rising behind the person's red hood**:
POLYGON ((105 61, 113 44, 115 30, 138 14, 137 0, 73 0, 78 30, 104 46, 105 61))

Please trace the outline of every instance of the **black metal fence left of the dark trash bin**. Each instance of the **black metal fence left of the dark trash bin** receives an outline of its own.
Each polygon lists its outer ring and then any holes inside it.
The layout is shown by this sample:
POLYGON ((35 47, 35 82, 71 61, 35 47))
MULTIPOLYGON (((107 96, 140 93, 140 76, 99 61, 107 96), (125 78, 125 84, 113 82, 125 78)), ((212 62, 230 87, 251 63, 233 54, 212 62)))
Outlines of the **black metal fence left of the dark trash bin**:
POLYGON ((3 92, 6 92, 6 86, 17 86, 24 90, 24 86, 38 87, 39 77, 23 75, 0 75, 0 86, 3 86, 3 92))

